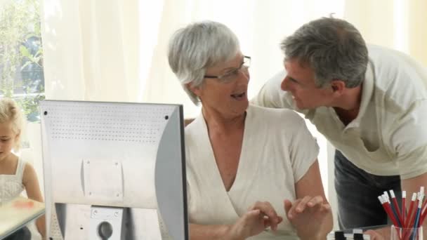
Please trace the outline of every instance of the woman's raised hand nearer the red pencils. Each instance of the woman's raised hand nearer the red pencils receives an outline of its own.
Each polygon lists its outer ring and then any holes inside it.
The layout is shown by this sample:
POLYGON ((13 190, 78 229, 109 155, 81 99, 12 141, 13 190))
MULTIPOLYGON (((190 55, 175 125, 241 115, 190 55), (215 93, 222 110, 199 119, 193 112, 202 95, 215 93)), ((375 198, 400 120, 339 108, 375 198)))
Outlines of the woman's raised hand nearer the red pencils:
POLYGON ((301 240, 326 239, 331 206, 322 196, 305 196, 303 199, 296 199, 294 203, 284 200, 284 211, 301 240))

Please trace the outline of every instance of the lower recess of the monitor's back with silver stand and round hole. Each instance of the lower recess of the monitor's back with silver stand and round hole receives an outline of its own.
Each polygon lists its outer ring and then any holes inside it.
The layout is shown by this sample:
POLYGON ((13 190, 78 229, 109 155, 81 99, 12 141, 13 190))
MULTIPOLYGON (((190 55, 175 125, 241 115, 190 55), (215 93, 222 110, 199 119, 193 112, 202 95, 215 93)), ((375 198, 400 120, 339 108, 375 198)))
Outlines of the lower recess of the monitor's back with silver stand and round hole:
POLYGON ((50 220, 49 232, 54 234, 50 234, 48 239, 162 239, 156 209, 58 203, 53 206, 54 218, 50 220))

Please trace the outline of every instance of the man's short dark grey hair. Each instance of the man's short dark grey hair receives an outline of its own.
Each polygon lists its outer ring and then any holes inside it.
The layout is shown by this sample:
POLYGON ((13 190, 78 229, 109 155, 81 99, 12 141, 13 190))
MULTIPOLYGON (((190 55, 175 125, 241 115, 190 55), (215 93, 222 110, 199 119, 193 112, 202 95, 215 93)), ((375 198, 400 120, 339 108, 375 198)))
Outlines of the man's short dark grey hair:
POLYGON ((360 86, 368 63, 368 50, 360 32, 349 22, 320 18, 303 25, 280 44, 285 61, 308 64, 317 87, 340 79, 346 87, 360 86))

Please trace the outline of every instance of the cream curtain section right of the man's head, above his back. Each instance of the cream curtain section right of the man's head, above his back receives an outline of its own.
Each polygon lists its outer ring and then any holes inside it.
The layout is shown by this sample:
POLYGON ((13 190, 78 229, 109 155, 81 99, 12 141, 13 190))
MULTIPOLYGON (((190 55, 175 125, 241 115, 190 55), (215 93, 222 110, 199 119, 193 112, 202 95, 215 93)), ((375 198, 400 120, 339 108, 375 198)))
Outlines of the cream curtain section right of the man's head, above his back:
POLYGON ((411 55, 427 66, 427 1, 347 0, 344 18, 370 44, 411 55))

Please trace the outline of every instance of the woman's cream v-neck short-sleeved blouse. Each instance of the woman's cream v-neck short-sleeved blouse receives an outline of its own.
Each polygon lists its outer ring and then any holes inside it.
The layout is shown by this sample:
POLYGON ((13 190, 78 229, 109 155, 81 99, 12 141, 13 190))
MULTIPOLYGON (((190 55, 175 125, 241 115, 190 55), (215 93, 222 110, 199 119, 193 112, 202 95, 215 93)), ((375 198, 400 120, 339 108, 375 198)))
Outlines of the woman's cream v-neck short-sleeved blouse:
POLYGON ((288 109, 249 105, 239 165, 227 192, 218 171, 204 117, 185 128, 188 211, 191 223, 232 224, 256 201, 268 201, 284 218, 277 232, 250 239, 296 239, 283 200, 296 199, 295 182, 317 159, 319 148, 305 121, 288 109))

